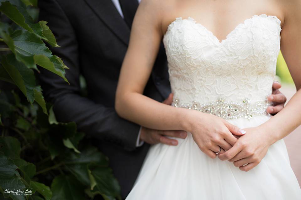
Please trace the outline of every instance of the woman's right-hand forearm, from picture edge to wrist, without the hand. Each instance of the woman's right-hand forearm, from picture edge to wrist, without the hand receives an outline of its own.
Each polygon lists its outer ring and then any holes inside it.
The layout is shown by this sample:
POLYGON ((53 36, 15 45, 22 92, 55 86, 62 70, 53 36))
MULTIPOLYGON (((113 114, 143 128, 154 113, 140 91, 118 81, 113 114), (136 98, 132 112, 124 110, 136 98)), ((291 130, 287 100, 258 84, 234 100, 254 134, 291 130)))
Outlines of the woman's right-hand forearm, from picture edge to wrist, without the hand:
POLYGON ((288 104, 261 127, 265 128, 271 143, 284 138, 301 124, 301 90, 290 99, 288 104))

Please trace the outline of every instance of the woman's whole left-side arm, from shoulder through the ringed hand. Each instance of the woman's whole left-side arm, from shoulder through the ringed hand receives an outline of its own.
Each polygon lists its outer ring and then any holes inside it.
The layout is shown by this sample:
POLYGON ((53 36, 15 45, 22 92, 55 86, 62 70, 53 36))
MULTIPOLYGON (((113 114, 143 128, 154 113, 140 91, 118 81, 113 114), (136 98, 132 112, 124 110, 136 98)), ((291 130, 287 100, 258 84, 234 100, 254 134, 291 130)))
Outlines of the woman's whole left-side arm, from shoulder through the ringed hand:
POLYGON ((237 141, 232 133, 243 135, 243 130, 214 115, 175 108, 143 95, 163 35, 161 19, 167 9, 163 4, 147 0, 139 5, 120 72, 115 109, 121 117, 147 128, 190 132, 200 149, 215 158, 213 151, 218 152, 219 146, 230 149, 237 141))

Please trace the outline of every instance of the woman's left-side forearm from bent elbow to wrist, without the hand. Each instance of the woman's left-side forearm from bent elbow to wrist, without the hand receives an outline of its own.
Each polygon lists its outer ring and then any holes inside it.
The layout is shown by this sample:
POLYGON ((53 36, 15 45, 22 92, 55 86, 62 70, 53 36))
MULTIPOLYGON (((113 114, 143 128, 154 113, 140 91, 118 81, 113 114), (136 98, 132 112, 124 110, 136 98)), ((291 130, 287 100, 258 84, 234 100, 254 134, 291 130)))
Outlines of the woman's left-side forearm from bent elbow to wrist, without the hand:
POLYGON ((157 102, 140 93, 117 96, 115 109, 120 117, 147 128, 187 131, 187 109, 157 102))

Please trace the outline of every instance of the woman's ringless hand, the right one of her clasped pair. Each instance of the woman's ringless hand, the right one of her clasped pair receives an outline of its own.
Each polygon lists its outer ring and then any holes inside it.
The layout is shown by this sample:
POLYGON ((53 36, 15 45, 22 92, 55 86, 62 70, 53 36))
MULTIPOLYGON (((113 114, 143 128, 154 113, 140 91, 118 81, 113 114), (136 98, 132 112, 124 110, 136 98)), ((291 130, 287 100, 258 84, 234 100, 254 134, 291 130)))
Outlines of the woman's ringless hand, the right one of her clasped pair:
POLYGON ((219 154, 219 159, 234 162, 235 167, 247 172, 261 162, 273 142, 261 127, 245 130, 246 134, 229 151, 219 154))

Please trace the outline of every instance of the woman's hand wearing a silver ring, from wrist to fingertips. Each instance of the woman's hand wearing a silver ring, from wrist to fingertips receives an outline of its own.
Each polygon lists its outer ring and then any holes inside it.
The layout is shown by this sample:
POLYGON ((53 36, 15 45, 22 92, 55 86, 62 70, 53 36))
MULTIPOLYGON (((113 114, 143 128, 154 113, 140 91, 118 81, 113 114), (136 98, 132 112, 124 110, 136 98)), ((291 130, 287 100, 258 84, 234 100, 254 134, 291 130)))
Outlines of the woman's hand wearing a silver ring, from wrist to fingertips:
POLYGON ((193 140, 198 147, 210 158, 215 158, 219 147, 229 150, 237 141, 235 135, 244 135, 245 131, 230 124, 226 120, 211 114, 188 110, 189 127, 187 131, 192 133, 193 140), (216 153, 214 153, 216 152, 216 153))

